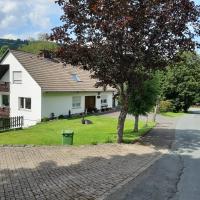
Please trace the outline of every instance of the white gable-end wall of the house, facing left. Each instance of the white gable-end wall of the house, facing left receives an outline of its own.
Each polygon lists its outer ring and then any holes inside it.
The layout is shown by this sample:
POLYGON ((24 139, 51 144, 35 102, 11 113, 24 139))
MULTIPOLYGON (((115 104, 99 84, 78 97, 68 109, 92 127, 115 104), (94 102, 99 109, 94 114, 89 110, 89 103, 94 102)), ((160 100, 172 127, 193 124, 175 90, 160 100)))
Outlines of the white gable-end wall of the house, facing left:
POLYGON ((6 56, 2 64, 10 65, 9 75, 4 75, 5 78, 10 78, 10 116, 24 116, 25 127, 35 125, 41 120, 40 86, 11 53, 6 56), (13 84, 13 71, 22 72, 22 84, 13 84), (31 110, 19 109, 19 97, 31 98, 31 110))

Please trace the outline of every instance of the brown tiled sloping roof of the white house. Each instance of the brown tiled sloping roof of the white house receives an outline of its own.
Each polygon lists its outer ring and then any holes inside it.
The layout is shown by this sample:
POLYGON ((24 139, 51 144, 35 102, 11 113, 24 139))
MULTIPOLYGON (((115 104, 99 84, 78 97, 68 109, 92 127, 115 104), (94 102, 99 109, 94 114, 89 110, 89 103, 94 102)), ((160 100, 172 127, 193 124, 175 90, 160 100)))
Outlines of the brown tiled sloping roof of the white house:
MULTIPOLYGON (((43 91, 103 91, 103 88, 95 88, 96 80, 90 78, 90 72, 79 67, 64 66, 63 63, 54 62, 51 59, 23 51, 10 50, 10 52, 40 85, 43 91), (72 74, 77 74, 81 81, 73 80, 72 74)), ((107 88, 106 91, 114 91, 114 89, 107 88)))

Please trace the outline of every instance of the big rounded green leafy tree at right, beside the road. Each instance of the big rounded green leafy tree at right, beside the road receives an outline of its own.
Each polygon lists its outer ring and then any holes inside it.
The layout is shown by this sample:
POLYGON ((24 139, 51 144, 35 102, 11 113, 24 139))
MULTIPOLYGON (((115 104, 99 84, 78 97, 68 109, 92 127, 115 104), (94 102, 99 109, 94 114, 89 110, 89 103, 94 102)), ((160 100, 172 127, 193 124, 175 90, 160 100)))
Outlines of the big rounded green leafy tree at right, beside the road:
POLYGON ((179 59, 165 74, 163 93, 173 102, 173 111, 187 112, 200 94, 200 57, 184 52, 179 59))

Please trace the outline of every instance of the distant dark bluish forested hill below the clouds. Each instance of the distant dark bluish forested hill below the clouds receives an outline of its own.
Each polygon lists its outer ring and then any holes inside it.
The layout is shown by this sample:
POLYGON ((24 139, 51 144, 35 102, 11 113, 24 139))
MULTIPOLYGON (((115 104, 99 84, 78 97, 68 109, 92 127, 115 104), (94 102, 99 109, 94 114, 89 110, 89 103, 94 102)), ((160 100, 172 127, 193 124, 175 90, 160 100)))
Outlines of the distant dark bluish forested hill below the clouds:
POLYGON ((18 49, 24 44, 28 44, 27 40, 10 40, 10 39, 1 39, 0 38, 0 48, 3 46, 7 46, 10 49, 18 49))

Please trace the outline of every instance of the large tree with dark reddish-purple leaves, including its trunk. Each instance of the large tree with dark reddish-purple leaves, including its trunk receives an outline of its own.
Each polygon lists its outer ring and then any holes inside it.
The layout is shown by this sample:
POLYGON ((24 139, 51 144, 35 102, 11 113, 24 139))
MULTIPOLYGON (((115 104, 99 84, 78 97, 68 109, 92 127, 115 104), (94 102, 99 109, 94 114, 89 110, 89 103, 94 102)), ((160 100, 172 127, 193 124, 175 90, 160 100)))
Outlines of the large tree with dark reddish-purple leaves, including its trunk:
POLYGON ((164 68, 179 49, 194 49, 199 8, 190 0, 57 0, 62 26, 50 39, 63 62, 80 64, 120 95, 118 142, 123 140, 128 98, 140 71, 164 68))

